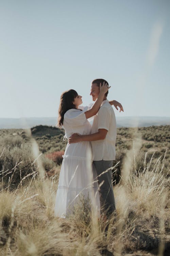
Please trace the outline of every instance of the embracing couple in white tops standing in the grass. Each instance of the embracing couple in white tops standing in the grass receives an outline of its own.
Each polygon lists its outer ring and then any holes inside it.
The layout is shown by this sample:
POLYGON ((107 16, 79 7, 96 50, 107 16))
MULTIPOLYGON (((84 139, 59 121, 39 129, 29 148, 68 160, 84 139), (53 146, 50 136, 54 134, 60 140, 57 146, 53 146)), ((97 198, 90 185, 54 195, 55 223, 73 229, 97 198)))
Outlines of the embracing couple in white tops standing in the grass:
POLYGON ((80 106, 82 96, 74 90, 61 95, 58 126, 64 127, 68 143, 56 193, 57 217, 69 214, 80 196, 89 197, 91 189, 95 192, 93 204, 99 216, 100 212, 107 218, 116 213, 111 169, 116 156, 116 119, 112 105, 120 111, 123 108, 116 100, 107 100, 110 87, 104 79, 93 80, 90 95, 95 103, 87 107, 80 106), (92 127, 88 121, 91 117, 94 117, 92 127))

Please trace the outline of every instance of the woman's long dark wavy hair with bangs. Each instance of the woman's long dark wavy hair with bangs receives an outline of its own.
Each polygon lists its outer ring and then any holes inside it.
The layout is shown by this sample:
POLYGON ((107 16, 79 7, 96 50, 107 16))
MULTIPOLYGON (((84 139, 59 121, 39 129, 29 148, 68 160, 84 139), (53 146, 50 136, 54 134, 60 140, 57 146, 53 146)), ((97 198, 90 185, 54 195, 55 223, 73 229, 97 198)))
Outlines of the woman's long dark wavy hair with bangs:
POLYGON ((73 104, 74 98, 78 96, 78 93, 74 90, 68 90, 66 92, 63 92, 60 97, 60 106, 58 109, 58 123, 57 126, 60 128, 63 125, 64 120, 64 114, 67 112, 67 110, 76 108, 73 104))

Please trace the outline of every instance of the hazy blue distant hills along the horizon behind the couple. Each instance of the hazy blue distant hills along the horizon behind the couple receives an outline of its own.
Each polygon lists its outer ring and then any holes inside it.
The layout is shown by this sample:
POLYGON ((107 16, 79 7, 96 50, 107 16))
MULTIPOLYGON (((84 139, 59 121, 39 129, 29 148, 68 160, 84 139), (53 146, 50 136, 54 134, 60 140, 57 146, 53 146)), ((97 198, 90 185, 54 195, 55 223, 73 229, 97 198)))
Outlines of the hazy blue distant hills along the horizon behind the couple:
MULTIPOLYGON (((117 127, 147 127, 152 125, 170 125, 170 117, 116 117, 117 127)), ((36 125, 57 123, 56 117, 0 118, 0 129, 26 129, 36 125)))

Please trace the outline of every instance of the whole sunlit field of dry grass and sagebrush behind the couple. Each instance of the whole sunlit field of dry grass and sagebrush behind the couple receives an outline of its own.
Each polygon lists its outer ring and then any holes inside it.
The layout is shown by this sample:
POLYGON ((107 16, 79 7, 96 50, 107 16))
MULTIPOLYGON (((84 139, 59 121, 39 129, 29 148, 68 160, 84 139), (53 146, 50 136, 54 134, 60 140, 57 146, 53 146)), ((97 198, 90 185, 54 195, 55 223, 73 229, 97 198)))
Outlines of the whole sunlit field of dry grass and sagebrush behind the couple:
POLYGON ((83 197, 65 219, 54 217, 63 131, 0 130, 0 255, 168 255, 169 130, 117 129, 109 221, 83 197))

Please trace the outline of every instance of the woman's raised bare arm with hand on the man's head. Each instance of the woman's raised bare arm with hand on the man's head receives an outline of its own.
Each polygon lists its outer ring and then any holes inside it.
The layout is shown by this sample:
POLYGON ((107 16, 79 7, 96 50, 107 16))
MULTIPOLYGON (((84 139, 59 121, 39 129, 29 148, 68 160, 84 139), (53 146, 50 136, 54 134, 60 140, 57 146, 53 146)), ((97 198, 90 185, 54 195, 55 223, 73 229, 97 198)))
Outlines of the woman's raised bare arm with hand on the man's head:
POLYGON ((100 93, 98 95, 98 98, 96 100, 96 102, 94 103, 94 105, 92 106, 92 108, 88 111, 85 112, 85 115, 86 115, 86 118, 90 118, 92 116, 95 116, 95 114, 97 114, 101 104, 102 104, 102 101, 103 101, 103 98, 104 98, 104 94, 108 91, 108 89, 110 88, 111 86, 108 87, 107 83, 103 82, 103 85, 101 85, 100 83, 100 93))

